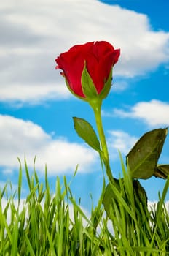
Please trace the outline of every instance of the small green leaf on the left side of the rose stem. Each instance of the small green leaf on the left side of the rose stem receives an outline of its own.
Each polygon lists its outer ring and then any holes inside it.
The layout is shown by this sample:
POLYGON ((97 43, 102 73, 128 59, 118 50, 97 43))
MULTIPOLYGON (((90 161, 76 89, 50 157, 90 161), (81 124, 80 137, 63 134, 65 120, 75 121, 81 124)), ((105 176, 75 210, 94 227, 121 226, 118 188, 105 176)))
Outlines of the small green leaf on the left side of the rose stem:
POLYGON ((73 119, 74 129, 79 137, 96 151, 101 152, 100 143, 91 124, 82 118, 73 117, 73 119))

